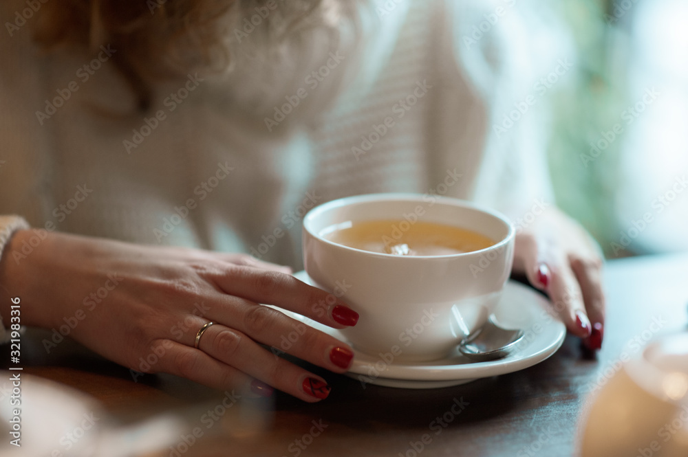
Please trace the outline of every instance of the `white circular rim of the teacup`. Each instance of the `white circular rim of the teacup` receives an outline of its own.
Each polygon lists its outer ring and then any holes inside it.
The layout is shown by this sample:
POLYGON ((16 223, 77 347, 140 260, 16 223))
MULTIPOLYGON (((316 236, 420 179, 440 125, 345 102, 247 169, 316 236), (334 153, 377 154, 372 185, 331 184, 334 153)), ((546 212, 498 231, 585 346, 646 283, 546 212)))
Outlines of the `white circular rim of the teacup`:
POLYGON ((472 210, 477 210, 480 212, 484 212, 486 214, 489 214, 490 216, 493 216, 495 219, 501 221, 508 227, 508 232, 502 240, 498 241, 497 243, 490 245, 488 247, 484 247, 483 249, 478 249, 477 251, 470 251, 470 252, 461 252, 460 254, 444 254, 442 256, 395 256, 394 254, 385 254, 383 252, 372 252, 372 251, 365 251, 363 249, 358 249, 356 247, 350 247, 350 246, 345 246, 341 245, 339 243, 334 243, 327 238, 323 238, 320 236, 320 234, 315 233, 314 230, 311 230, 310 224, 313 223, 314 218, 319 216, 322 212, 332 210, 333 208, 341 208, 343 206, 350 205, 352 203, 365 203, 369 201, 423 201, 424 202, 424 197, 427 197, 429 194, 417 194, 417 193, 411 193, 411 192, 386 192, 386 193, 380 193, 380 194, 362 194, 362 195, 353 195, 351 197, 343 197, 341 199, 336 199, 336 200, 331 200, 328 201, 327 203, 323 203, 321 205, 317 205, 315 208, 312 208, 312 210, 308 211, 308 213, 303 216, 303 230, 305 232, 308 232, 311 236, 316 238, 318 241, 321 241, 322 243, 325 243, 327 245, 330 245, 332 247, 336 247, 339 249, 344 249, 346 251, 351 251, 351 252, 359 252, 361 254, 364 254, 366 256, 373 256, 373 257, 380 257, 380 258, 396 258, 396 259, 401 259, 405 258, 407 260, 401 260, 402 262, 409 262, 409 261, 418 261, 418 260, 427 260, 430 258, 439 258, 439 259, 447 259, 447 258, 463 258, 463 257, 469 257, 469 256, 475 256, 475 255, 480 255, 484 252, 492 251, 495 249, 499 249, 500 247, 506 247, 510 241, 515 238, 516 230, 513 225, 513 223, 508 219, 507 216, 505 216, 502 212, 499 212, 497 210, 493 210, 492 208, 488 208, 486 205, 482 205, 480 203, 474 203, 472 201, 466 201, 462 199, 455 199, 453 197, 444 197, 440 195, 432 195, 434 199, 436 199, 436 203, 445 203, 453 206, 457 206, 460 208, 469 208, 472 210))

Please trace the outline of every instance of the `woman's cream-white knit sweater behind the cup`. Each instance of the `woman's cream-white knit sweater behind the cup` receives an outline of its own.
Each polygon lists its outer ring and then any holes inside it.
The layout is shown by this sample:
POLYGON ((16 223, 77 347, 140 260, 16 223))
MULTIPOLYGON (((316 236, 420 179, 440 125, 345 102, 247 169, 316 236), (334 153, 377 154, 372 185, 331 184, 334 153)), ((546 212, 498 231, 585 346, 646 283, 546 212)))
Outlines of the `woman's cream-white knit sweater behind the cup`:
MULTIPOLYGON (((228 75, 160 84, 145 118, 128 114, 133 95, 107 61, 116 49, 46 54, 32 19, 10 27, 0 34, 0 214, 299 268, 303 212, 337 197, 437 192, 510 214, 551 199, 543 102, 494 129, 515 102, 537 98, 538 72, 563 57, 527 43, 537 21, 526 3, 369 3, 340 19, 337 40, 313 30, 308 44, 288 42, 279 71, 244 56, 228 75), (273 240, 276 229, 287 236, 273 240)), ((1 2, 1 22, 25 7, 1 2)))

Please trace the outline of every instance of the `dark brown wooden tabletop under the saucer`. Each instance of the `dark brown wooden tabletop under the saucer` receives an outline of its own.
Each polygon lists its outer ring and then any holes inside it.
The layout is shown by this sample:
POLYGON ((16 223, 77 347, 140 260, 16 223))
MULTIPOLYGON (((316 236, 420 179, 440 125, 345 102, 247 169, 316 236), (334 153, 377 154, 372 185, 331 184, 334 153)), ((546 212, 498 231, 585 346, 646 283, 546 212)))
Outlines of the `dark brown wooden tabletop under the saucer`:
POLYGON ((42 331, 23 337, 22 355, 25 372, 91 394, 118 421, 184 411, 190 430, 200 427, 202 436, 164 456, 571 456, 590 391, 618 368, 619 355, 636 355, 645 339, 687 328, 687 274, 685 255, 610 261, 605 339, 596 357, 586 357, 577 339, 567 337, 537 366, 437 390, 363 389, 354 379, 320 372, 332 394, 319 404, 277 394, 262 403, 235 403, 217 421, 207 412, 224 409, 218 406, 222 392, 170 376, 134 383, 128 370, 73 342, 46 355, 42 331), (666 322, 658 333, 649 330, 653 320, 666 322), (451 423, 436 434, 433 421, 455 401, 468 404, 460 414, 447 414, 451 423))

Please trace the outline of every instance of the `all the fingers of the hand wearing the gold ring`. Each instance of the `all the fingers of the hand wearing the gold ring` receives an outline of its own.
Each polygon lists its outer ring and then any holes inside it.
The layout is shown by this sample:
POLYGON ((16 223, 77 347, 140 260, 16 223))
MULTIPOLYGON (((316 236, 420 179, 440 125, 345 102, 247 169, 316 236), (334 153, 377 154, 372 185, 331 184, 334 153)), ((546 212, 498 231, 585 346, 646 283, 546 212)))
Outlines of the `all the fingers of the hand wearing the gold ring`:
MULTIPOLYGON (((173 361, 167 361, 166 372, 219 387, 235 384, 239 372, 246 374, 246 379, 240 380, 244 384, 255 378, 304 401, 319 401, 327 397, 330 388, 321 377, 279 355, 289 353, 328 370, 346 372, 354 357, 352 349, 338 339, 257 301, 290 308, 339 328, 344 326, 341 322, 356 322, 358 316, 353 311, 331 294, 279 271, 224 263, 197 271, 214 283, 216 291, 208 291, 210 302, 206 301, 208 309, 202 316, 203 322, 178 341, 193 349, 195 332, 202 324, 208 321, 215 324, 202 334, 196 353, 177 348, 178 355, 174 355, 176 359, 173 361), (347 312, 353 316, 347 316, 347 312), (348 320, 343 320, 342 316, 348 320), (260 344, 272 346, 272 349, 263 348, 260 344), (197 353, 206 353, 211 360, 197 353), (223 368, 217 371, 217 363, 231 370, 223 368), (217 372, 194 375, 199 367, 217 372)), ((255 381, 251 386, 254 385, 255 381)))

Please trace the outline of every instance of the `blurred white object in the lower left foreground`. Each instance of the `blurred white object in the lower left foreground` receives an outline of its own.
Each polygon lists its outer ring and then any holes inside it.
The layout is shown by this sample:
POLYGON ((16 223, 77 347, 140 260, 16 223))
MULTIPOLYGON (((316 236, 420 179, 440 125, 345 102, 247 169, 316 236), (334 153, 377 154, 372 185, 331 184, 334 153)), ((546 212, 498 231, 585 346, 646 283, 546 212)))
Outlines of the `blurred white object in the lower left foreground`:
POLYGON ((0 370, 0 456, 141 456, 175 443, 182 431, 184 423, 174 416, 118 427, 81 392, 20 370, 0 370), (13 430, 16 435, 8 433, 13 430))

